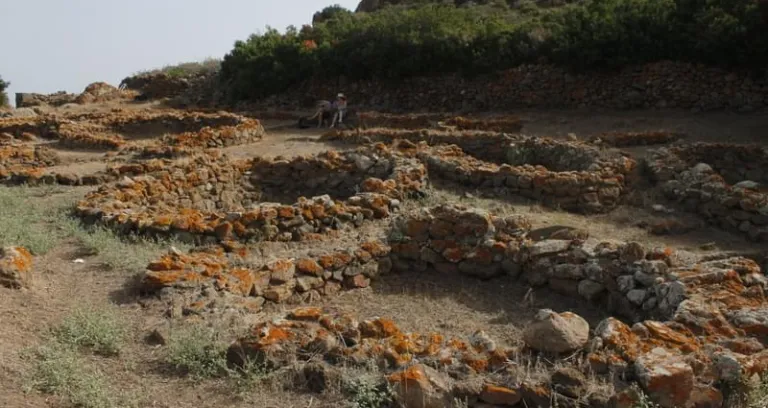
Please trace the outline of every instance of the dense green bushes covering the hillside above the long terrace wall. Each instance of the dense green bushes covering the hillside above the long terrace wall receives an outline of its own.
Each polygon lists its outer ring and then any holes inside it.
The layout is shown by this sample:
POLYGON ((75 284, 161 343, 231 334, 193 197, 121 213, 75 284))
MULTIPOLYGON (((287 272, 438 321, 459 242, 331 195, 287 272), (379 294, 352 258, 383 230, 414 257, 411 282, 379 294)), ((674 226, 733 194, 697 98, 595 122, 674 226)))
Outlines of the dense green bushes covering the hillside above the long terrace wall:
POLYGON ((268 28, 236 42, 221 75, 241 100, 312 78, 471 76, 542 58, 577 70, 666 59, 765 69, 768 6, 761 1, 586 0, 551 9, 413 1, 357 14, 332 6, 314 26, 284 34, 268 28))

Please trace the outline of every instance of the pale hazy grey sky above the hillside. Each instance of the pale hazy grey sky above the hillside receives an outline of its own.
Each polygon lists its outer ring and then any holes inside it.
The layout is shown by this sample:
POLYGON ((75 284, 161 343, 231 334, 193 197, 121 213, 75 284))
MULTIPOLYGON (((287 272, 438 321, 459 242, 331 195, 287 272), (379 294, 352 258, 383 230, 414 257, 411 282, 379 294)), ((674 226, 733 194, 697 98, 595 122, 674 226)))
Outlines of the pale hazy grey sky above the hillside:
POLYGON ((301 27, 359 0, 0 0, 0 76, 8 91, 82 92, 140 70, 221 58, 235 40, 301 27))

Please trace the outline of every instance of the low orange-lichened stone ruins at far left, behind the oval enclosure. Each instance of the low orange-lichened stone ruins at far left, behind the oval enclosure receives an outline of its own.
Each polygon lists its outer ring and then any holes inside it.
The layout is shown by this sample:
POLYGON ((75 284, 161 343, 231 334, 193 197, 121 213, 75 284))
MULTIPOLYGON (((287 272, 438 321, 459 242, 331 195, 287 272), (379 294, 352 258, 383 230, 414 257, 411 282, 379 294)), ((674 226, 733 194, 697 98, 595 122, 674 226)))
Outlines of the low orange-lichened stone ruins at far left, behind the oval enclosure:
MULTIPOLYGON (((94 185, 117 181, 123 173, 120 166, 94 174, 50 171, 48 167, 59 163, 52 148, 176 159, 204 149, 258 142, 263 135, 258 120, 230 113, 116 110, 4 118, 0 119, 0 182, 94 185)), ((139 160, 132 167, 146 166, 157 167, 158 162, 139 160)))

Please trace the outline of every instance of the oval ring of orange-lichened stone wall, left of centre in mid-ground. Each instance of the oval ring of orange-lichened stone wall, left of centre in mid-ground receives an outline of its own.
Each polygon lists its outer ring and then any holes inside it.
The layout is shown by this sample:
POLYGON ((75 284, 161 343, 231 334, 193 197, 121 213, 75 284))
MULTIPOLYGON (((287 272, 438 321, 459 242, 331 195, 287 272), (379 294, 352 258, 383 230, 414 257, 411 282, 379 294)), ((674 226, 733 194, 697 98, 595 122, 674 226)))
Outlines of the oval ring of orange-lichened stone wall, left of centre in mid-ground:
POLYGON ((424 167, 420 163, 399 166, 409 162, 394 160, 393 153, 384 146, 359 151, 355 156, 326 154, 335 157, 342 168, 355 162, 374 163, 374 155, 389 157, 394 163, 387 180, 368 177, 362 180, 360 192, 344 200, 328 195, 297 197, 291 204, 262 202, 260 186, 251 184, 246 174, 279 163, 261 159, 229 161, 215 153, 194 156, 185 163, 128 163, 117 168, 123 177, 120 182, 89 193, 78 205, 77 213, 86 221, 123 232, 171 235, 185 242, 311 239, 332 230, 359 226, 367 219, 385 218, 399 206, 400 198, 423 188, 424 167), (130 174, 141 175, 130 178, 130 174))

